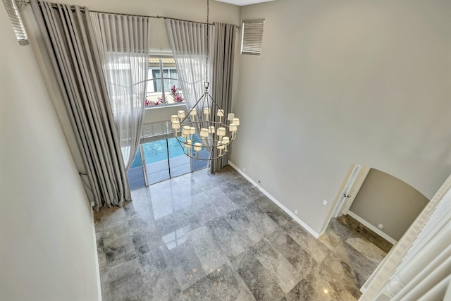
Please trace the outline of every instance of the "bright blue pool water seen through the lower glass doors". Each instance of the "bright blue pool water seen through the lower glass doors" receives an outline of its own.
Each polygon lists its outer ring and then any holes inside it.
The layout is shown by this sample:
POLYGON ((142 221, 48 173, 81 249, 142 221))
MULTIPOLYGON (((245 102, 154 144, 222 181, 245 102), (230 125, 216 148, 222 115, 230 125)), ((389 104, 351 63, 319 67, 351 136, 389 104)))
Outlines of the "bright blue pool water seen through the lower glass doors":
MULTIPOLYGON (((168 150, 166 149, 166 139, 147 142, 144 143, 142 147, 144 149, 146 164, 168 159, 168 150)), ((169 147, 169 158, 173 158, 175 156, 182 156, 184 154, 182 147, 180 147, 177 139, 175 138, 168 139, 168 147, 169 147)), ((138 149, 137 151, 135 161, 133 161, 131 168, 138 166, 141 166, 140 149, 138 149)))

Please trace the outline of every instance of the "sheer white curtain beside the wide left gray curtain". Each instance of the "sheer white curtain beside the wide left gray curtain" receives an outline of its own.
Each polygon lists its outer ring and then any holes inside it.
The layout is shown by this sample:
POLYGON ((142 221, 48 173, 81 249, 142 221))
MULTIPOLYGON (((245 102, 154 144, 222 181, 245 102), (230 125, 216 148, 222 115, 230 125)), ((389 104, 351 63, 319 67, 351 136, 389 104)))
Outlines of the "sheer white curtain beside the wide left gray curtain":
POLYGON ((149 70, 149 18, 91 13, 125 169, 140 144, 149 70))

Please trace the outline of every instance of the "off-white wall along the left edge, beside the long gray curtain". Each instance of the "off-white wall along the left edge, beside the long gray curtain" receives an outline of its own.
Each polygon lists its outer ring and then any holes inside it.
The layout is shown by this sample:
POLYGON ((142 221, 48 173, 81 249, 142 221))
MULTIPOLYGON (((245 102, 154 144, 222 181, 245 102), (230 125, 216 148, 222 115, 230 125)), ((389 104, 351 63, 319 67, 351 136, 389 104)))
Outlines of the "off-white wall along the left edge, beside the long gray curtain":
POLYGON ((30 46, 0 8, 0 300, 99 300, 92 216, 30 46))

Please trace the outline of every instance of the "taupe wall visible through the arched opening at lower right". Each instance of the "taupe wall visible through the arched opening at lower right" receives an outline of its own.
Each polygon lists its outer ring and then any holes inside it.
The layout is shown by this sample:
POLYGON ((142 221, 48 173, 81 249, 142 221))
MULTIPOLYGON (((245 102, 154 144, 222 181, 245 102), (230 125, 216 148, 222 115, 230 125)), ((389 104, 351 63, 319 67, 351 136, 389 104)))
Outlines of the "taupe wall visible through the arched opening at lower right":
POLYGON ((382 232, 400 240, 429 200, 402 180, 372 169, 354 199, 350 211, 382 232))

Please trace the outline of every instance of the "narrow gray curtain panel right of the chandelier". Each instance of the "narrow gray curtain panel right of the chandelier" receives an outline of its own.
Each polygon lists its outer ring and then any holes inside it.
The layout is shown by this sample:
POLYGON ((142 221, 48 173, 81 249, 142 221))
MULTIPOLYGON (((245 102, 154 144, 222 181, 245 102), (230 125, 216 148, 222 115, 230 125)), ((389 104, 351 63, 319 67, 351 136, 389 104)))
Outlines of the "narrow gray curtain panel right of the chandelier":
MULTIPOLYGON (((215 39, 213 45, 213 70, 211 96, 218 106, 225 110, 225 116, 230 112, 232 104, 233 60, 235 57, 236 28, 232 24, 215 23, 215 39)), ((214 114, 214 121, 219 121, 214 114)), ((231 144, 233 145, 233 144, 231 144)), ((231 146, 230 145, 230 146, 231 146)), ((213 149, 214 156, 218 149, 213 149)), ((229 147, 230 152, 230 147, 229 147)), ((215 173, 228 163, 228 154, 211 161, 210 172, 215 173)))

